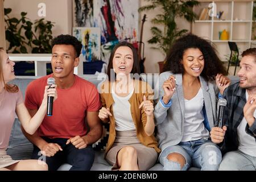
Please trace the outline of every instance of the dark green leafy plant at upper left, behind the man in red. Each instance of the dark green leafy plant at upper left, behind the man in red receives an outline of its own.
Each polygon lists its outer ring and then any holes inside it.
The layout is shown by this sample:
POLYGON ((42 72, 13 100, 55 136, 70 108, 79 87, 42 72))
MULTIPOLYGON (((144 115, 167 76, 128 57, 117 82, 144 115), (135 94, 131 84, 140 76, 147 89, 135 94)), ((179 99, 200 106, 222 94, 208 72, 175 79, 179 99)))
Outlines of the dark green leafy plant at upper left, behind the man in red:
POLYGON ((53 22, 42 19, 34 23, 26 17, 27 13, 20 13, 21 18, 10 18, 11 9, 5 9, 6 40, 10 43, 7 52, 51 53, 53 22))

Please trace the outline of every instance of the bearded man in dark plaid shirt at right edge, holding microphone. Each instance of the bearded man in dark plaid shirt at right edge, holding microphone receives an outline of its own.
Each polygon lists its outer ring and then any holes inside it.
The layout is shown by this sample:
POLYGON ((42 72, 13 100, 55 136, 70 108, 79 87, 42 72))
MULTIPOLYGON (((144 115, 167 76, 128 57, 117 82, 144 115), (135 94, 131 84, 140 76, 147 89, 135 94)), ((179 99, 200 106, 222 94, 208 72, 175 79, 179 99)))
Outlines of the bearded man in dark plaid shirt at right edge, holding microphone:
POLYGON ((210 137, 225 154, 219 170, 256 169, 256 48, 242 53, 240 81, 224 92, 225 126, 213 127, 210 137))

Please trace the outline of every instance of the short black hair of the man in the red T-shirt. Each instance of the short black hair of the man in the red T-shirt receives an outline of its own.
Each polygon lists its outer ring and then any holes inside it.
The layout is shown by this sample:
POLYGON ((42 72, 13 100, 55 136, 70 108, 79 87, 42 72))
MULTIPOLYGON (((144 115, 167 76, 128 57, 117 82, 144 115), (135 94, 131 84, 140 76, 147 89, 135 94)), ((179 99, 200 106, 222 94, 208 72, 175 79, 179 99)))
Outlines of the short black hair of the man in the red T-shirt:
POLYGON ((52 48, 55 45, 61 44, 72 45, 75 48, 76 57, 79 57, 82 49, 82 44, 79 40, 77 40, 77 38, 75 38, 75 36, 61 34, 52 40, 52 48))

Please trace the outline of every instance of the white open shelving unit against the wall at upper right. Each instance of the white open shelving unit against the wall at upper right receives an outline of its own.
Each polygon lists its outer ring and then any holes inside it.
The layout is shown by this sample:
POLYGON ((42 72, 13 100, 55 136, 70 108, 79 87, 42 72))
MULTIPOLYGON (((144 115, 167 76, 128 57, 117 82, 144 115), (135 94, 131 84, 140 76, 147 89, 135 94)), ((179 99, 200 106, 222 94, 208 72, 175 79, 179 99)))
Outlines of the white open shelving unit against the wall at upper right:
POLYGON ((237 43, 240 54, 249 47, 256 47, 256 40, 251 40, 254 1, 201 0, 200 5, 194 7, 194 12, 200 15, 201 10, 208 8, 210 3, 216 4, 217 13, 224 11, 221 19, 213 16, 209 20, 195 20, 192 23, 193 34, 212 41, 222 61, 227 61, 225 55, 230 55, 228 41, 237 43), (224 29, 228 31, 229 40, 219 39, 219 31, 224 29))

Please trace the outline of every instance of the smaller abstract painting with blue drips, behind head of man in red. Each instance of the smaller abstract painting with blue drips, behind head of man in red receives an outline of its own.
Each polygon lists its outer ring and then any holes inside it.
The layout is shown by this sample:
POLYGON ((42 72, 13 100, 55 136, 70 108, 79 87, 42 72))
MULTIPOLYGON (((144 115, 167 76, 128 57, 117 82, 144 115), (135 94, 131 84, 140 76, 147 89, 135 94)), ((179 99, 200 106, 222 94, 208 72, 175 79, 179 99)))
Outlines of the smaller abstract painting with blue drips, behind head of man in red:
POLYGON ((73 27, 73 36, 82 43, 82 55, 85 61, 101 59, 100 52, 100 28, 96 27, 73 27))

